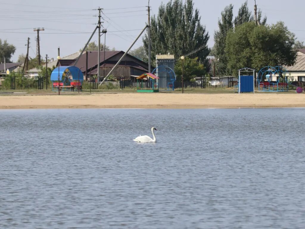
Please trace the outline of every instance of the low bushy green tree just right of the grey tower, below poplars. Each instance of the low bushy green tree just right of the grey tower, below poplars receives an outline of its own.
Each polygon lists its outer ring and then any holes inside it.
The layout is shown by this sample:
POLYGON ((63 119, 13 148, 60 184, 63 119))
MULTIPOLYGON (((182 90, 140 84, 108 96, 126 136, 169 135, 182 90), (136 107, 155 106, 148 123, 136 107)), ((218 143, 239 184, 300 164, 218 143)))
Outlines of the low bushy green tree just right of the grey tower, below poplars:
MULTIPOLYGON (((206 74, 203 64, 200 64, 198 62, 198 59, 199 59, 198 57, 195 58, 185 57, 185 59, 183 60, 183 80, 191 81, 193 78, 197 76, 202 76, 206 74)), ((182 75, 181 59, 179 59, 175 64, 174 71, 176 73, 177 80, 181 81, 181 75, 182 75)))

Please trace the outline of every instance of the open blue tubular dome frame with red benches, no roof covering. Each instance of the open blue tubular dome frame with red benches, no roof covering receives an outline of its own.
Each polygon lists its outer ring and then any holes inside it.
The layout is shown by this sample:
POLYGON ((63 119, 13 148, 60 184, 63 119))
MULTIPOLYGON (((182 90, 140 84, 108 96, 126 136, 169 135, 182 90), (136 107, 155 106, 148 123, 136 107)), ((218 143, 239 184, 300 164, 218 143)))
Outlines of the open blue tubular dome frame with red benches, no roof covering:
POLYGON ((266 66, 257 74, 258 90, 262 92, 288 91, 287 70, 282 66, 266 66))

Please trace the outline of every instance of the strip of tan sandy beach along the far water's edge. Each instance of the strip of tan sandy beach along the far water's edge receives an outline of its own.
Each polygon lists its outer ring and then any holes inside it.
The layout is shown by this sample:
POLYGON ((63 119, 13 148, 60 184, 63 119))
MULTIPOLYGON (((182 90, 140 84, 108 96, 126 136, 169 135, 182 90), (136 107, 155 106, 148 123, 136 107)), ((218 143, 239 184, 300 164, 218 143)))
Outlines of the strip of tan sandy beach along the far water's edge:
POLYGON ((304 94, 104 93, 0 96, 0 109, 305 107, 304 94))

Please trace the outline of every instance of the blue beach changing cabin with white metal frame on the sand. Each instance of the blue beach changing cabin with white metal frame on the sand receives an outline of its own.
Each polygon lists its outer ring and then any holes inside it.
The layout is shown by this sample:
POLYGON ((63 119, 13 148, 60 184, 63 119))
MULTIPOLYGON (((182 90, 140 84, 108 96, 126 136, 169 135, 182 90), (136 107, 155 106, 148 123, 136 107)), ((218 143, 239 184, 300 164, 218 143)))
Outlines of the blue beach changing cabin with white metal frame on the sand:
POLYGON ((241 92, 253 92, 254 94, 254 72, 254 69, 248 67, 238 70, 238 85, 234 89, 238 90, 238 94, 241 92))

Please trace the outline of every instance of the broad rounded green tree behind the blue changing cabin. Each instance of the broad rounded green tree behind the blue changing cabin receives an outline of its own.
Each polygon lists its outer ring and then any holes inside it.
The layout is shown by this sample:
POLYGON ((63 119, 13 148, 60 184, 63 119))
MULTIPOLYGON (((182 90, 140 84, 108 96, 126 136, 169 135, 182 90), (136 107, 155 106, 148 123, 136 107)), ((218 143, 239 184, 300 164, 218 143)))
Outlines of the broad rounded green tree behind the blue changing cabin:
POLYGON ((259 70, 268 65, 292 65, 296 58, 294 40, 294 34, 283 22, 271 26, 248 22, 237 26, 226 38, 228 71, 237 75, 237 70, 244 67, 259 70))

